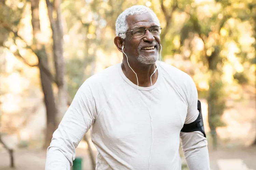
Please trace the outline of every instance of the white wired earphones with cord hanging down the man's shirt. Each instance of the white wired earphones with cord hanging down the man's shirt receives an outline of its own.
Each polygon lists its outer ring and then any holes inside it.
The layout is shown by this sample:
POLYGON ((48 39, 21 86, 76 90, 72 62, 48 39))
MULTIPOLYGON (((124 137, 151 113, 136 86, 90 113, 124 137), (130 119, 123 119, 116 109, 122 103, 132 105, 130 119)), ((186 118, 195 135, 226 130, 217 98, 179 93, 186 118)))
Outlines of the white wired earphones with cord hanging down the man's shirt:
MULTIPOLYGON (((160 50, 160 61, 161 61, 161 52, 162 52, 162 45, 161 46, 161 50, 160 50)), ((136 75, 136 78, 137 78, 137 92, 140 96, 140 93, 139 93, 139 90, 138 90, 138 87, 139 87, 139 80, 138 80, 138 76, 136 74, 136 72, 131 68, 129 62, 128 62, 128 57, 126 55, 126 53, 124 52, 124 45, 122 47, 122 51, 123 53, 125 54, 126 56, 126 59, 127 59, 127 63, 128 63, 128 66, 130 67, 130 69, 134 72, 134 74, 136 75)), ((154 70, 154 72, 151 74, 150 76, 150 82, 151 82, 151 87, 153 88, 153 83, 152 83, 152 75, 157 71, 157 68, 154 70)), ((151 99, 150 99, 150 104, 149 106, 151 105, 151 101, 152 101, 152 96, 153 96, 153 91, 151 90, 151 99)), ((152 149, 153 149, 153 143, 154 143, 154 129, 153 129, 153 122, 152 122, 152 116, 151 116, 151 113, 150 113, 150 108, 147 107, 147 105, 143 102, 143 100, 141 99, 141 96, 140 96, 140 100, 142 101, 142 103, 145 105, 145 107, 148 109, 148 112, 149 112, 149 115, 150 115, 150 120, 151 120, 151 129, 152 129, 152 144, 151 144, 151 151, 150 151, 150 157, 149 157, 149 160, 148 160, 148 167, 149 167, 149 170, 150 170, 150 160, 151 160, 151 154, 152 154, 152 149)))

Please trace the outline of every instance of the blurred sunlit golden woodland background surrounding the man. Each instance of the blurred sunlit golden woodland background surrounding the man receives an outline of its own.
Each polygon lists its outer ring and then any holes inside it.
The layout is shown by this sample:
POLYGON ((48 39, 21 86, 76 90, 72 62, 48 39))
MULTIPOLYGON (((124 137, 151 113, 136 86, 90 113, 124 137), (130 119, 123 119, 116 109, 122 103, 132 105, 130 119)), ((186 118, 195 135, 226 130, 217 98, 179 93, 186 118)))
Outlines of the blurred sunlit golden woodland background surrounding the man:
MULTIPOLYGON (((122 62, 115 20, 136 4, 160 20, 162 61, 197 85, 211 170, 256 170, 256 0, 0 0, 1 170, 44 170, 77 89, 122 62)), ((96 155, 89 131, 83 170, 96 155)))

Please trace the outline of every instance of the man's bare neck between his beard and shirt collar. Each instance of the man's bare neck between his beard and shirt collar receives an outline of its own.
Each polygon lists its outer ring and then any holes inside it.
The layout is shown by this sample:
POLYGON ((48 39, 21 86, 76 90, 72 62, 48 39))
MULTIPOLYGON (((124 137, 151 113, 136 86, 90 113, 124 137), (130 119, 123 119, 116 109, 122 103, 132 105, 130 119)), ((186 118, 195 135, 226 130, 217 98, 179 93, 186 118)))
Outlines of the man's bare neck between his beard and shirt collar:
MULTIPOLYGON (((158 71, 156 71, 153 74, 153 72, 156 69, 156 64, 155 63, 145 65, 145 64, 138 63, 138 62, 129 61, 129 64, 130 64, 131 68, 134 70, 134 72, 136 72, 136 74, 137 74, 139 86, 141 86, 141 87, 150 87, 151 86, 151 80, 152 80, 152 84, 156 83, 156 80, 157 80, 157 77, 158 77, 158 71), (151 75, 152 75, 152 77, 151 77, 151 75), (150 77, 151 77, 151 80, 150 80, 150 77)), ((123 70, 125 76, 132 83, 137 85, 136 75, 134 74, 134 72, 129 67, 126 58, 123 59, 121 67, 122 67, 122 70, 123 70)))

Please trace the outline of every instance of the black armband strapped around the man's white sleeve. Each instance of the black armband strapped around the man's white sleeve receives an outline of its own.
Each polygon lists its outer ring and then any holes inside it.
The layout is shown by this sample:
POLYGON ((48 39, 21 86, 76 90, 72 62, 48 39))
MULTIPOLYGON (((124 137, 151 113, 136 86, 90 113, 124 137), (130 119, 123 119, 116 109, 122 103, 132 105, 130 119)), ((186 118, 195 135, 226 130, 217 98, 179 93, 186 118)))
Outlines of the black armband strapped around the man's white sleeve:
POLYGON ((184 124, 183 128, 181 129, 181 132, 200 131, 203 133, 204 137, 206 137, 205 131, 204 131, 204 126, 203 126, 201 102, 199 100, 197 101, 197 109, 199 111, 199 115, 198 115, 197 119, 192 123, 184 124))

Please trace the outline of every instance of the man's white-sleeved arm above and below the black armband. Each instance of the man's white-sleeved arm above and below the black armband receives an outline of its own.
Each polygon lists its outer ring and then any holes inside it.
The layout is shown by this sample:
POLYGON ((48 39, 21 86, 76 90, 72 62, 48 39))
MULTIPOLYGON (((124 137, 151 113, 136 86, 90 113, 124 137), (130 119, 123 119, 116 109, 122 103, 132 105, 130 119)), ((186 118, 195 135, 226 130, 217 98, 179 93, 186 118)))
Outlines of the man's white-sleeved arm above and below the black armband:
MULTIPOLYGON (((194 122, 199 111, 197 109, 198 94, 193 80, 189 79, 187 86, 188 110, 185 124, 194 122)), ((189 170, 210 170, 209 153, 207 140, 200 131, 181 132, 182 150, 189 170)))

